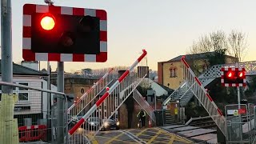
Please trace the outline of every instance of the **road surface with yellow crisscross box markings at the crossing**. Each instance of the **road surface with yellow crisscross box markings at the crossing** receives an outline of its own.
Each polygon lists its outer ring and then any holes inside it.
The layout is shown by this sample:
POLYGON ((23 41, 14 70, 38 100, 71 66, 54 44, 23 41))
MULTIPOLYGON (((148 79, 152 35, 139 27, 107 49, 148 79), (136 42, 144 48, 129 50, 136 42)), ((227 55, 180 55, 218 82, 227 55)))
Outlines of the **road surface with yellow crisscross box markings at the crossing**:
POLYGON ((145 129, 111 130, 100 131, 94 138, 92 144, 166 144, 166 143, 193 143, 192 141, 172 134, 158 127, 145 129))

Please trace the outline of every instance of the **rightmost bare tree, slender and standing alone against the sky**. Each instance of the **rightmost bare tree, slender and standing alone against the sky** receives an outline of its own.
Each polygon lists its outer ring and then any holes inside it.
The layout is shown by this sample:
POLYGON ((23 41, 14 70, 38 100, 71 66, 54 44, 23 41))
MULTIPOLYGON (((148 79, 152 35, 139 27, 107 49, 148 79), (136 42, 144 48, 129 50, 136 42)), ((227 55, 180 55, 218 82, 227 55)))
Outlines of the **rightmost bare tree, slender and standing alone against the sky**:
POLYGON ((246 56, 247 38, 246 34, 238 30, 232 30, 228 38, 230 44, 230 54, 238 58, 238 62, 241 62, 246 56))

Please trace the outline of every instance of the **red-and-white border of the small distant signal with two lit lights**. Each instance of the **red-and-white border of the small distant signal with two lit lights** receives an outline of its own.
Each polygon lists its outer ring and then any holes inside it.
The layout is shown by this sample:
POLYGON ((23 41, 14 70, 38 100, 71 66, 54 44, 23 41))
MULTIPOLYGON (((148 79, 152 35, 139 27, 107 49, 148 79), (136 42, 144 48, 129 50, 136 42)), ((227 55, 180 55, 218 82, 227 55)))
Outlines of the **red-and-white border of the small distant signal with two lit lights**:
POLYGON ((222 86, 246 86, 246 78, 243 79, 243 82, 242 83, 225 83, 224 82, 224 71, 246 71, 245 68, 236 68, 236 67, 222 67, 221 69, 221 83, 222 83, 222 86))

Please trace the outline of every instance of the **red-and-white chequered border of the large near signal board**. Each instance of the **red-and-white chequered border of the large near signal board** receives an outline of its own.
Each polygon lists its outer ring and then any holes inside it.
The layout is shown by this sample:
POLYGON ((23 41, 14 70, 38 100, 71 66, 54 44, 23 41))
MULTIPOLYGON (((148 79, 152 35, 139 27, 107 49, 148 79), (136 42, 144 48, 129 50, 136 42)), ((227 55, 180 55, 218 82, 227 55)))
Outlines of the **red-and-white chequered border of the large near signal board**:
POLYGON ((94 10, 63 6, 46 6, 26 4, 23 6, 22 56, 27 61, 57 62, 106 62, 107 60, 107 21, 105 10, 94 10), (100 53, 99 54, 56 54, 34 53, 31 50, 31 15, 34 13, 54 13, 68 15, 90 15, 100 19, 100 53))

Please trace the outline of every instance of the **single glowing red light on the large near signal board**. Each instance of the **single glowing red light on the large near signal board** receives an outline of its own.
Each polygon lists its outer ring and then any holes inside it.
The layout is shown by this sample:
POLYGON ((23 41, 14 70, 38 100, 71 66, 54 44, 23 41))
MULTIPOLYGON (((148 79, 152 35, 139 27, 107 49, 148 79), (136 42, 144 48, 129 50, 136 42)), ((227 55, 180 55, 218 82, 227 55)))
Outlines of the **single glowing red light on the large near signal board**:
POLYGON ((43 30, 53 30, 55 26, 54 16, 45 15, 41 18, 40 22, 43 30))

